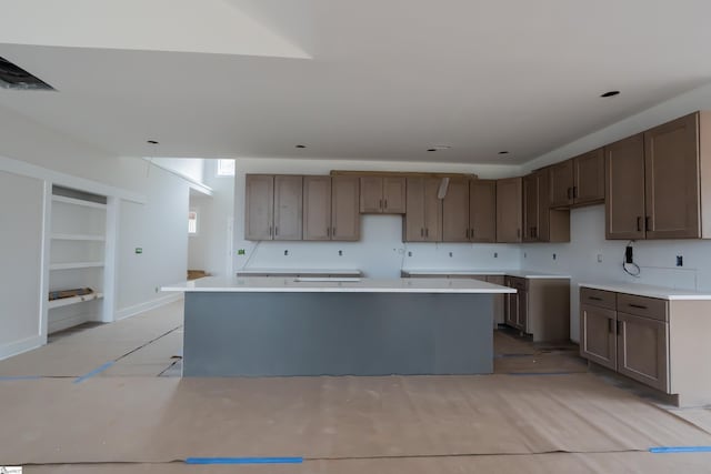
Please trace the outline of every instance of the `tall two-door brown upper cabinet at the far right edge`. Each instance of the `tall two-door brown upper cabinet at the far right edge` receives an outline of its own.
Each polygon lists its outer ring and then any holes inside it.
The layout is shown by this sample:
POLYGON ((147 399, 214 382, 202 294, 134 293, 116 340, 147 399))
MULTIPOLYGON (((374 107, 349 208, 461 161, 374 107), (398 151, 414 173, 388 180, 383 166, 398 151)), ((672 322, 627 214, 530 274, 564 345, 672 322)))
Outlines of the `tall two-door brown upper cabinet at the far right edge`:
POLYGON ((710 127, 697 112, 605 147, 607 239, 711 238, 710 127))

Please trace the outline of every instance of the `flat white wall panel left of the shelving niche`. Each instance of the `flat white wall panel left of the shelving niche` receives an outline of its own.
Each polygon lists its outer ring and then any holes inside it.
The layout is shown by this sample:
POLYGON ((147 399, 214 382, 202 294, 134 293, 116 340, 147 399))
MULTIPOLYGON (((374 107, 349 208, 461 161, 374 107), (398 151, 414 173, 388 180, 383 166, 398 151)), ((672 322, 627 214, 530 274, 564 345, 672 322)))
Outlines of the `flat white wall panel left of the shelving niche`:
POLYGON ((0 359, 41 341, 43 183, 0 171, 0 359))

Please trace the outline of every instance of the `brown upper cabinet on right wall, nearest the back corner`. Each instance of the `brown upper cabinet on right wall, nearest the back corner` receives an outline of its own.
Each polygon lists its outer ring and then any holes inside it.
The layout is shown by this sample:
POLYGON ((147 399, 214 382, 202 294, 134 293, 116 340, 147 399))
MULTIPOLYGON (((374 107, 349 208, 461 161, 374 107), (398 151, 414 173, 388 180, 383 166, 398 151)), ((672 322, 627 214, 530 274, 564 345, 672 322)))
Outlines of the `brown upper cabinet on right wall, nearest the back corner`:
POLYGON ((523 241, 570 242, 570 211, 550 209, 550 169, 523 178, 523 241))

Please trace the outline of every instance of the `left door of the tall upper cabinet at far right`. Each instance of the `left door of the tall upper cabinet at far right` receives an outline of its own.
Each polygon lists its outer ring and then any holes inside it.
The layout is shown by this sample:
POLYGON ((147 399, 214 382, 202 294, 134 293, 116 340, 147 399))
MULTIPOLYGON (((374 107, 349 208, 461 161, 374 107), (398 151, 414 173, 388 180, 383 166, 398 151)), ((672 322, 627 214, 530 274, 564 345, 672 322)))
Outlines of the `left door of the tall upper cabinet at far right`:
POLYGON ((641 133, 604 148, 605 239, 644 239, 644 140, 641 133))

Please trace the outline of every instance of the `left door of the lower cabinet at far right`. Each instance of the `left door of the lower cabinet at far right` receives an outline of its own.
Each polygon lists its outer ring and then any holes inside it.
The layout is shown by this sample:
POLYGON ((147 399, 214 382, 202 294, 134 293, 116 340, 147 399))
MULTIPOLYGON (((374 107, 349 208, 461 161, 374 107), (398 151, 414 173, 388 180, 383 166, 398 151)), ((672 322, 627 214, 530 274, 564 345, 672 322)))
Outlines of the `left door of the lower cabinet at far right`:
POLYGON ((580 305, 580 355, 605 367, 618 369, 617 313, 580 305))

